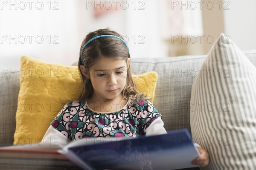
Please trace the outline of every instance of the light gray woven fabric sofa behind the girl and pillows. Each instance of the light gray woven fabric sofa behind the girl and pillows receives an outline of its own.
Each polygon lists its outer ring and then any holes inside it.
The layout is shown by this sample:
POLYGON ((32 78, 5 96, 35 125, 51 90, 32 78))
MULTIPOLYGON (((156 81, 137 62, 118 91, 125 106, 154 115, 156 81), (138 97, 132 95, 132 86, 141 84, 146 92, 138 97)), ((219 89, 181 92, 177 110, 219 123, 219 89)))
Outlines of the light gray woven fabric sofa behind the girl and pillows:
MULTIPOLYGON (((256 65, 256 51, 244 51, 248 59, 256 65)), ((198 74, 206 55, 162 58, 131 58, 134 74, 156 71, 158 74, 154 106, 162 114, 166 130, 187 128, 191 133, 189 121, 189 102, 193 79, 198 74)), ((6 70, 5 70, 6 71, 6 70)), ((9 71, 9 70, 8 70, 9 71)), ((15 72, 12 70, 12 72, 15 72)), ((0 81, 0 145, 13 143, 15 133, 15 114, 20 79, 16 74, 2 74, 0 81)), ((198 169, 198 168, 194 168, 198 169)))

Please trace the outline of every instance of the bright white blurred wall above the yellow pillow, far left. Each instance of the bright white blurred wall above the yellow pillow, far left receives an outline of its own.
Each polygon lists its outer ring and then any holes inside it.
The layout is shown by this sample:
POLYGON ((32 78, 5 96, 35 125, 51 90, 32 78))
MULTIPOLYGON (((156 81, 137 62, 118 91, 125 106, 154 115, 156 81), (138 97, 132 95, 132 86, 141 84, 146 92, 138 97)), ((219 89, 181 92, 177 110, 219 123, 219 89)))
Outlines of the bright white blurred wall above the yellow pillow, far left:
POLYGON ((29 3, 26 3, 26 8, 22 10, 25 6, 22 3, 19 6, 19 2, 1 1, 1 69, 20 68, 22 55, 35 57, 44 62, 69 65, 79 58, 76 54, 80 45, 77 36, 79 14, 76 12, 75 3, 55 1, 59 4, 52 3, 49 10, 49 1, 40 1, 43 4, 40 10, 41 4, 37 3, 38 6, 35 6, 35 2, 38 1, 34 1, 31 9, 29 3), (3 2, 7 2, 8 5, 4 6, 3 2), (16 3, 16 6, 9 6, 10 2, 13 5, 16 3), (52 9, 55 6, 57 10, 52 9), (5 40, 6 36, 8 40, 5 40), (38 39, 35 38, 37 36, 38 39), (9 41, 9 37, 14 38, 16 42, 9 41))

